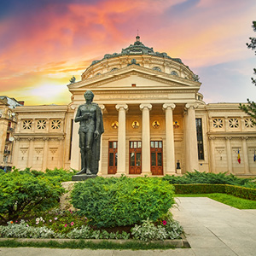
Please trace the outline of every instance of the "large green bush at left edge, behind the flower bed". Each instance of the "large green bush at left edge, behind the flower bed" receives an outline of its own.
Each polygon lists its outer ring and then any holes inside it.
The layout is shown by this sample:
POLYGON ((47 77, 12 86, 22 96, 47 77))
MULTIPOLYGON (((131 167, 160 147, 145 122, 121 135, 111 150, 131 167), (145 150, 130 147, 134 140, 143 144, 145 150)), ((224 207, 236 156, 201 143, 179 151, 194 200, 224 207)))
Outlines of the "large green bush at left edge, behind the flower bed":
POLYGON ((0 179, 0 218, 15 221, 32 212, 44 212, 58 204, 64 191, 60 183, 34 177, 27 170, 5 173, 0 179))

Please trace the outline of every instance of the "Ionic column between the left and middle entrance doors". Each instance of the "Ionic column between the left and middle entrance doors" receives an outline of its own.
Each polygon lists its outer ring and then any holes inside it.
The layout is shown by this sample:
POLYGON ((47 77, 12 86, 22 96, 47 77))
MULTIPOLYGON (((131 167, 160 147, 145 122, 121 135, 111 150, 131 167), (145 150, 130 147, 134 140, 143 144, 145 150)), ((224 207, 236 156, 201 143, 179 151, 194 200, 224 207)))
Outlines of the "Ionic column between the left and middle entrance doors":
POLYGON ((115 108, 119 112, 119 131, 118 131, 118 166, 117 166, 117 175, 125 174, 125 141, 126 141, 126 111, 128 106, 126 104, 118 104, 115 108))

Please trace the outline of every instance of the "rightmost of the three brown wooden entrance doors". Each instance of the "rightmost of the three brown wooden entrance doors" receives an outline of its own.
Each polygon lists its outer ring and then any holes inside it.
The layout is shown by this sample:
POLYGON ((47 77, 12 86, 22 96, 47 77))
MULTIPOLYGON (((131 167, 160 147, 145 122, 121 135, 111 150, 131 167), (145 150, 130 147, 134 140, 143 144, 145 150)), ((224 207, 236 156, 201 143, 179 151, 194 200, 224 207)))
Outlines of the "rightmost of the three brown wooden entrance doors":
POLYGON ((163 175, 163 143, 150 142, 152 175, 163 175))

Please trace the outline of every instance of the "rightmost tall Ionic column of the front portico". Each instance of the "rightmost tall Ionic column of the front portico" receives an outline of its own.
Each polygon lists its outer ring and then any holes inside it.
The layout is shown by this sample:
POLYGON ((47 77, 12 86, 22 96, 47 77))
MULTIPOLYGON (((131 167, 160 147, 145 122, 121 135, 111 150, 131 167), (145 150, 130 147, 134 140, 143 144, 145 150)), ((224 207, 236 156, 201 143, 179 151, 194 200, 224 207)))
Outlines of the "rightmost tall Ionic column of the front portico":
POLYGON ((198 105, 195 103, 189 103, 185 106, 188 109, 186 119, 186 171, 189 172, 193 172, 199 168, 195 126, 195 108, 197 107, 198 105))

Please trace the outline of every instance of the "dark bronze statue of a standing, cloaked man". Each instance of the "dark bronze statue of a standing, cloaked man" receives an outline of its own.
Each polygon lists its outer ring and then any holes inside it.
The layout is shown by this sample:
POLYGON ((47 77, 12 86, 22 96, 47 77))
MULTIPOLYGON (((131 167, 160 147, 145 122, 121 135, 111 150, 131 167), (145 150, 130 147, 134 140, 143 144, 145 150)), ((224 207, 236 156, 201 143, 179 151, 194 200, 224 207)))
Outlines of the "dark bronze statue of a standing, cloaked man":
POLYGON ((84 92, 85 103, 80 105, 74 119, 79 122, 79 148, 81 152, 81 171, 79 174, 97 174, 100 160, 101 136, 104 132, 102 110, 92 103, 94 94, 84 92))

